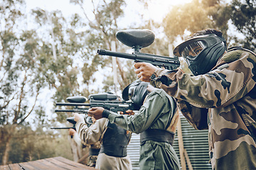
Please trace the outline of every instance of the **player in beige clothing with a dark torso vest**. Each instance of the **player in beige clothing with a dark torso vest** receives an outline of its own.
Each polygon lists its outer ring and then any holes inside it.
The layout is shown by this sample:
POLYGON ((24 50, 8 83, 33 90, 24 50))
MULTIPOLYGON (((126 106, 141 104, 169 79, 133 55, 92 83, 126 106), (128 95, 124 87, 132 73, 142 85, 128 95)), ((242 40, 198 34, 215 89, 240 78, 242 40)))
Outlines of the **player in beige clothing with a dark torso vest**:
POLYGON ((82 115, 74 113, 75 128, 83 144, 102 143, 97 156, 96 169, 102 170, 131 170, 132 162, 127 155, 127 145, 131 132, 111 124, 106 118, 96 120, 88 128, 82 115))

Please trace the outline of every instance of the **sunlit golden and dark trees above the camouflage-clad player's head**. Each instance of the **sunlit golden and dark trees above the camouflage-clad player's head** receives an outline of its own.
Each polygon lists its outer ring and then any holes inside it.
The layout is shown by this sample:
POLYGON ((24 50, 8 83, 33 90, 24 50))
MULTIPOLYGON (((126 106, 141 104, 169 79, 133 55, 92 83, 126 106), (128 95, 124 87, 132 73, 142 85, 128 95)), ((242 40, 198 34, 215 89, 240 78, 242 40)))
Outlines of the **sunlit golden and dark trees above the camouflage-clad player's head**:
POLYGON ((230 4, 220 0, 193 0, 191 3, 172 8, 164 18, 164 32, 169 40, 174 41, 178 36, 186 39, 198 30, 215 28, 223 32, 228 45, 241 45, 253 51, 256 47, 255 6, 255 0, 233 0, 230 4), (232 21, 235 29, 245 38, 238 38, 233 32, 228 33, 229 21, 232 21))

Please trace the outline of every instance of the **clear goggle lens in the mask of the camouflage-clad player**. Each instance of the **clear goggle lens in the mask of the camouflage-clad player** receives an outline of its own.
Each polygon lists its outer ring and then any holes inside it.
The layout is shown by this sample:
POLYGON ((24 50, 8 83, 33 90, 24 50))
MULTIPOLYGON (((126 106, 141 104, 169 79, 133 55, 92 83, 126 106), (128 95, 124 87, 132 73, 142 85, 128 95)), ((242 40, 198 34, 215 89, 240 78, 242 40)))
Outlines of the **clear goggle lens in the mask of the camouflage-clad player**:
POLYGON ((206 42, 203 40, 198 40, 196 42, 191 42, 191 44, 186 45, 186 47, 181 50, 180 54, 184 58, 190 57, 195 58, 197 57, 201 51, 206 49, 207 45, 206 42))

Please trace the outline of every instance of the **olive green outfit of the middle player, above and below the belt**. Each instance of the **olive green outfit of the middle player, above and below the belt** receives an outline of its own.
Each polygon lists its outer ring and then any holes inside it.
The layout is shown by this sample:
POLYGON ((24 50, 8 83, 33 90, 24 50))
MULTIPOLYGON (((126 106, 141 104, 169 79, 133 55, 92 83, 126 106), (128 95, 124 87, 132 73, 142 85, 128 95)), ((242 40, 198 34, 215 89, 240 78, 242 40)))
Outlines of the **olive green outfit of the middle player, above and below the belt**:
MULTIPOLYGON (((110 123, 116 123, 131 132, 141 133, 148 129, 176 132, 178 113, 174 98, 162 89, 155 89, 146 96, 143 106, 134 115, 119 115, 110 111, 110 123)), ((140 146, 139 169, 180 169, 178 156, 168 142, 148 140, 140 146)))

